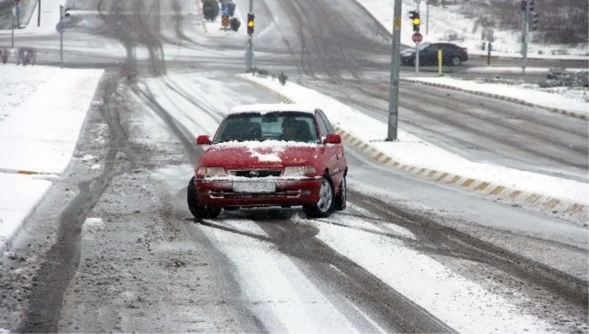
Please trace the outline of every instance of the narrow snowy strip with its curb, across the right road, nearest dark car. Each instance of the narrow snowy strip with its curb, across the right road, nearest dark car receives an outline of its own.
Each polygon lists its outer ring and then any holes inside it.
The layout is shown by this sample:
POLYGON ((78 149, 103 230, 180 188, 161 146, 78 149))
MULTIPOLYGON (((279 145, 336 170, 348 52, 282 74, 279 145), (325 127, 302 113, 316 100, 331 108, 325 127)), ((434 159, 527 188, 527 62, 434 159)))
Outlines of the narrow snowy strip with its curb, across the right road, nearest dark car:
POLYGON ((531 89, 519 88, 514 85, 481 84, 472 80, 454 78, 402 78, 400 80, 474 93, 522 105, 535 106, 574 118, 589 119, 589 103, 566 98, 554 93, 532 91, 531 89))

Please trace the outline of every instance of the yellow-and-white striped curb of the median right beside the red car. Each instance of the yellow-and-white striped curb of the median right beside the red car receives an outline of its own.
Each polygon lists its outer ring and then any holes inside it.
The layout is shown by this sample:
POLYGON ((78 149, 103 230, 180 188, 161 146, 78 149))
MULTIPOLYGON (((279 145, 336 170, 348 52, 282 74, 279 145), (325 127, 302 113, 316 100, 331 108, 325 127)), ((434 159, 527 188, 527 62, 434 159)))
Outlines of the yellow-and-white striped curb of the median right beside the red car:
MULTIPOLYGON (((249 80, 243 76, 237 75, 243 81, 246 81, 257 88, 269 93, 270 96, 283 103, 295 103, 292 99, 283 94, 268 88, 266 85, 259 82, 249 80)), ((400 171, 410 173, 421 178, 426 178, 436 183, 442 183, 450 186, 458 186, 462 189, 481 193, 485 198, 492 198, 501 201, 514 203, 515 205, 527 206, 539 209, 541 212, 548 215, 570 216, 571 218, 581 217, 581 215, 589 214, 587 205, 575 203, 566 199, 555 198, 544 195, 542 193, 525 192, 515 188, 508 188, 497 183, 482 181, 465 176, 438 171, 436 169, 422 168, 420 166, 408 165, 406 163, 394 161, 391 157, 383 152, 378 151, 370 143, 366 143, 352 133, 343 130, 339 126, 335 126, 336 132, 342 136, 342 140, 348 142, 350 145, 358 148, 360 151, 366 153, 376 162, 383 165, 390 166, 400 171)))

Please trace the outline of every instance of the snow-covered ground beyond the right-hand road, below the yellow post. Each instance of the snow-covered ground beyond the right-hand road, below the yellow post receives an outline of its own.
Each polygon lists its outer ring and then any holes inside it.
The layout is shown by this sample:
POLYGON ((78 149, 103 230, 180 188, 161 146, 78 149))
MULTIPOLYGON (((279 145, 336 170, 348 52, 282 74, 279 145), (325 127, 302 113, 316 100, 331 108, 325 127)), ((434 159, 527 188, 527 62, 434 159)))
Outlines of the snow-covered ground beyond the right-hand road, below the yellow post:
POLYGON ((558 108, 589 117, 588 90, 584 87, 540 88, 538 85, 497 84, 456 78, 403 78, 417 82, 431 82, 468 91, 483 92, 520 99, 545 108, 558 108))

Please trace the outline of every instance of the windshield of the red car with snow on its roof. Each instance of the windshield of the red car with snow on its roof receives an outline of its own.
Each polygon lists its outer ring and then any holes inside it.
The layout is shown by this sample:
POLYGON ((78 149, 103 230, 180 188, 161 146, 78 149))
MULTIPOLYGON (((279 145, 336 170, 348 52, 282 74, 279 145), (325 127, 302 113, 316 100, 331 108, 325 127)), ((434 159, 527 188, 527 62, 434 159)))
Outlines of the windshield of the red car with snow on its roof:
POLYGON ((234 113, 221 123, 214 143, 230 141, 317 142, 315 118, 307 112, 234 113))

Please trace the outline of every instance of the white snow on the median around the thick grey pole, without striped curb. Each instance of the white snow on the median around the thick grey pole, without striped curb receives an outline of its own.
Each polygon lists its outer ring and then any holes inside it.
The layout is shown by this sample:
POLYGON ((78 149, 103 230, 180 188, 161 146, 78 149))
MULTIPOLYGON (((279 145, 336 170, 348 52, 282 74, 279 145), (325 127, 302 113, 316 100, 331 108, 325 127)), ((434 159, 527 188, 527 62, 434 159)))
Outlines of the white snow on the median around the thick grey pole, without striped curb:
POLYGON ((312 103, 322 106, 333 123, 343 130, 353 133, 356 138, 364 142, 371 142, 370 145, 390 156, 393 161, 461 175, 465 178, 498 183, 507 188, 542 193, 556 198, 587 203, 589 205, 589 184, 587 183, 520 171, 505 166, 472 162, 454 153, 423 142, 421 139, 405 131, 399 131, 398 142, 386 142, 388 126, 385 122, 370 118, 364 113, 328 98, 321 93, 294 84, 293 82, 287 82, 286 85, 282 86, 276 79, 260 78, 246 74, 239 74, 238 76, 267 86, 273 91, 289 97, 294 102, 312 103))

